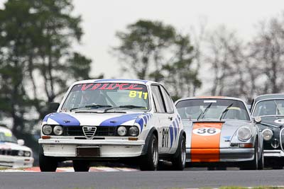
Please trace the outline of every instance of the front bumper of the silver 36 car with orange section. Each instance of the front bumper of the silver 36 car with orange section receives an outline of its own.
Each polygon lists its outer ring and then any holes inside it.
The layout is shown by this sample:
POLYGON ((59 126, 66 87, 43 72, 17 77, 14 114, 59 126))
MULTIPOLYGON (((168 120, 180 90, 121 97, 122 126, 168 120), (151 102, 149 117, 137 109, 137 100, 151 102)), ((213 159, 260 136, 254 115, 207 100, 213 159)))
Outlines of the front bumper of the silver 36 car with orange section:
MULTIPOLYGON (((187 162, 191 162, 191 149, 186 149, 187 151, 187 162)), ((226 148, 226 149, 217 149, 216 156, 219 156, 219 159, 211 161, 210 156, 212 154, 207 153, 212 151, 212 149, 200 149, 200 159, 198 162, 234 162, 234 161, 251 161, 254 158, 254 148, 226 148), (207 156, 207 154, 209 154, 207 156)), ((196 159, 195 159, 196 161, 196 159)))

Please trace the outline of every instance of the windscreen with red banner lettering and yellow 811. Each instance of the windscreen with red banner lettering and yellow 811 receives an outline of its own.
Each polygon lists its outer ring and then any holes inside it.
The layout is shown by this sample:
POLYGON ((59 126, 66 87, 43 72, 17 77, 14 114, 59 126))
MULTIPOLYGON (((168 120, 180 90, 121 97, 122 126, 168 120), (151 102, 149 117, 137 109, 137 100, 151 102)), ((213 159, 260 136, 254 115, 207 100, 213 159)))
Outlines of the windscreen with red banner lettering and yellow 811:
POLYGON ((94 83, 72 87, 62 111, 149 110, 148 89, 143 84, 94 83))

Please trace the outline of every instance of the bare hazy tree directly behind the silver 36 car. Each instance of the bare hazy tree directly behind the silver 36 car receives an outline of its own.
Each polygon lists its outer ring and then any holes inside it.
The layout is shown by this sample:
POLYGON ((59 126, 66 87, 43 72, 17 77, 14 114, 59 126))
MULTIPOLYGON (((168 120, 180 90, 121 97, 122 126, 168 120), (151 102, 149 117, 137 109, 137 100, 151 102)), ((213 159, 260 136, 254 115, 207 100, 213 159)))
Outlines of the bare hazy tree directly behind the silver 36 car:
POLYGON ((209 35, 207 63, 212 70, 212 96, 248 96, 245 45, 234 31, 221 26, 209 35))

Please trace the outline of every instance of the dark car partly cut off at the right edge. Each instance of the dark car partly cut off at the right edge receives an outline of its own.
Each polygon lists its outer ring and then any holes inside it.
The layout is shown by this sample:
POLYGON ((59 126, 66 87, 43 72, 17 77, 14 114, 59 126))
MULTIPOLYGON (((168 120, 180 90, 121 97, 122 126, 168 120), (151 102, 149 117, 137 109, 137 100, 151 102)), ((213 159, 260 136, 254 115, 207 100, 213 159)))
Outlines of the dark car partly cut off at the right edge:
POLYGON ((263 133, 265 166, 283 168, 284 94, 257 96, 251 104, 251 115, 263 133))

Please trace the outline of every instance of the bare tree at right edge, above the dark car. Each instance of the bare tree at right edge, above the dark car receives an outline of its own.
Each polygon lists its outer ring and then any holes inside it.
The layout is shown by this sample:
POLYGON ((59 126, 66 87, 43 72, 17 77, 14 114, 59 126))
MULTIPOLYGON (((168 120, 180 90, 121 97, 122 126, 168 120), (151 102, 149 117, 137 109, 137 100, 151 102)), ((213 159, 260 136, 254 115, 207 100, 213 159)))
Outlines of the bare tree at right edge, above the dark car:
POLYGON ((250 43, 251 64, 258 93, 280 93, 283 91, 284 71, 284 13, 281 17, 262 21, 258 35, 250 43), (257 76, 256 76, 257 75, 257 76))

